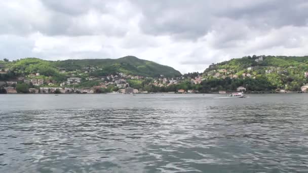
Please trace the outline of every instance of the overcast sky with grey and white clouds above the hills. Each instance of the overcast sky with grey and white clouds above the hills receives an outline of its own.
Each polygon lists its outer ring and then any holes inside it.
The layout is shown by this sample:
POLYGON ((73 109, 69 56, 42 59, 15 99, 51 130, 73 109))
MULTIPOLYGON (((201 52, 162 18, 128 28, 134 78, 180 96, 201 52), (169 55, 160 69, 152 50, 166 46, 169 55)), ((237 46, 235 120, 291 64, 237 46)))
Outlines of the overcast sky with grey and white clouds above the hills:
POLYGON ((0 1, 0 59, 136 56, 181 73, 308 55, 306 0, 0 1))

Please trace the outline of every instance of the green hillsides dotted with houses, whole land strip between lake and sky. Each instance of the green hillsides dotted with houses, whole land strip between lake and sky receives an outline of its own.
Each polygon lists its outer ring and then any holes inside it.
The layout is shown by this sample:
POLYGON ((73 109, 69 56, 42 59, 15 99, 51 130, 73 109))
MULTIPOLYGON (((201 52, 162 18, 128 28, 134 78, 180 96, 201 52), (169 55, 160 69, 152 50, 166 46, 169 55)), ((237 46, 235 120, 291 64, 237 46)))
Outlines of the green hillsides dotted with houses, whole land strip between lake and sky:
POLYGON ((187 74, 155 63, 156 69, 145 70, 153 62, 131 56, 109 65, 81 61, 4 59, 0 63, 0 94, 306 93, 308 89, 305 57, 254 55, 187 74))

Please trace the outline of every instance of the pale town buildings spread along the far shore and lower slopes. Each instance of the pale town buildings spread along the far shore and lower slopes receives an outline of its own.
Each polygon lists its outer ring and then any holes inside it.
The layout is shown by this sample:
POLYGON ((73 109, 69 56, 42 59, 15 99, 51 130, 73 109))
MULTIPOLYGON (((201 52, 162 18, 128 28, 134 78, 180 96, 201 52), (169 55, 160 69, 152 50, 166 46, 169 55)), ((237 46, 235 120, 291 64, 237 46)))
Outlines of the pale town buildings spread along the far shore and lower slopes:
MULTIPOLYGON (((65 73, 65 68, 59 68, 62 73, 65 73)), ((89 72, 90 68, 86 68, 84 74, 89 72)), ((92 68, 91 70, 95 70, 92 68)), ((252 70, 252 67, 247 68, 247 70, 252 70)), ((273 70, 266 70, 266 73, 271 73, 273 70)), ((40 73, 30 74, 26 77, 18 77, 17 80, 13 81, 0 81, 0 87, 2 89, 6 90, 6 94, 17 94, 17 93, 29 93, 29 94, 102 94, 102 93, 112 93, 112 94, 154 94, 157 92, 148 92, 144 91, 142 89, 134 89, 130 86, 128 80, 134 80, 134 81, 144 81, 148 80, 151 81, 149 84, 157 86, 159 88, 161 87, 168 87, 170 85, 179 84, 184 81, 189 80, 191 84, 201 84, 202 81, 208 79, 208 78, 223 78, 229 77, 230 79, 233 78, 239 78, 238 75, 230 74, 231 71, 227 71, 226 69, 219 69, 219 70, 212 70, 206 75, 198 74, 196 77, 192 78, 189 76, 182 75, 180 77, 175 78, 168 78, 164 77, 164 75, 161 75, 158 78, 152 78, 152 77, 144 77, 144 76, 138 76, 138 75, 127 75, 124 73, 117 73, 115 75, 107 75, 103 76, 101 78, 89 76, 86 78, 82 77, 68 77, 66 81, 61 82, 60 86, 57 85, 53 81, 50 80, 44 80, 43 78, 40 78, 40 73), (227 74, 227 75, 225 75, 227 74), (96 81, 99 82, 99 85, 94 85, 92 87, 84 87, 84 88, 75 88, 75 86, 81 85, 83 82, 88 81, 96 81), (26 83, 29 86, 32 86, 32 88, 28 89, 28 92, 18 92, 16 89, 16 85, 18 83, 26 83), (112 88, 109 92, 101 92, 102 89, 108 89, 112 88)), ((82 74, 80 74, 82 75, 82 74)), ((305 77, 308 77, 308 72, 304 73, 305 77)), ((73 74, 71 76, 74 76, 73 74)), ((252 77, 255 78, 255 76, 252 76, 250 73, 243 73, 240 77, 252 77)), ((301 87, 301 93, 306 93, 308 89, 308 85, 303 85, 301 87)), ((214 90, 214 89, 213 89, 214 90)), ((237 92, 247 92, 247 89, 244 86, 239 86, 236 90, 237 92)), ((219 90, 216 92, 212 92, 214 94, 227 94, 234 91, 224 91, 219 90)), ((169 94, 197 94, 199 93, 198 90, 184 90, 184 89, 178 89, 176 91, 172 92, 158 92, 158 93, 169 93, 169 94)), ((252 92, 252 93, 264 93, 264 92, 252 92)), ((275 93, 299 93, 299 92, 291 92, 286 90, 276 90, 275 93)))

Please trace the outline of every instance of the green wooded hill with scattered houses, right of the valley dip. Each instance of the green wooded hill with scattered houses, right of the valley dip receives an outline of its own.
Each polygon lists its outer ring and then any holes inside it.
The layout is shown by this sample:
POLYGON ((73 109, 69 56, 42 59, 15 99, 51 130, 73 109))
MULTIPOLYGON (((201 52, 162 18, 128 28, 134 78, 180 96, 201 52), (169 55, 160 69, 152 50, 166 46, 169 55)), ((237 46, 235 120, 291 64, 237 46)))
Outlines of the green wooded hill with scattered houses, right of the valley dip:
MULTIPOLYGON (((212 64, 204 71, 204 76, 207 80, 237 80, 242 85, 248 85, 251 91, 273 89, 300 91, 300 87, 308 83, 307 72, 308 56, 254 55, 212 64)), ((223 83, 221 87, 228 89, 228 84, 231 83, 223 83)))

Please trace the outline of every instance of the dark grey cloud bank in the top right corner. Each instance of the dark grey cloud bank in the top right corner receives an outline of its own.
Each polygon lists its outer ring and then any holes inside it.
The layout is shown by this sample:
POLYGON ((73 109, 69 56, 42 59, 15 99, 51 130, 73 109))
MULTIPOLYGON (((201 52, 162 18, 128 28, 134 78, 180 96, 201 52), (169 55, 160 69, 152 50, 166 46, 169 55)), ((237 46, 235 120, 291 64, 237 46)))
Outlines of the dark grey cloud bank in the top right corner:
POLYGON ((263 27, 263 24, 273 28, 286 25, 303 26, 307 24, 308 18, 306 4, 304 0, 272 0, 247 8, 230 9, 220 16, 235 20, 244 19, 247 24, 255 27, 263 27))

